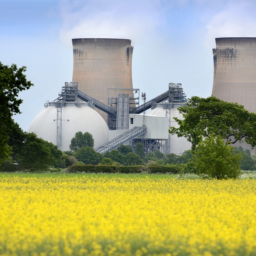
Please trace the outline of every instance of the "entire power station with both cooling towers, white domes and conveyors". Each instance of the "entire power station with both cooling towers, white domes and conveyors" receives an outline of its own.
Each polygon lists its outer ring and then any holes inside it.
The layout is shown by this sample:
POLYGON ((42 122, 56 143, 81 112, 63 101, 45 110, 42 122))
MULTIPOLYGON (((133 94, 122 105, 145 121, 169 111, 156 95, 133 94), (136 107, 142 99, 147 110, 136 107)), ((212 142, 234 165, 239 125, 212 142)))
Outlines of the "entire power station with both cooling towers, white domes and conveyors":
MULTIPOLYGON (((100 153, 121 144, 135 149, 138 142, 146 154, 182 154, 191 148, 185 138, 168 133, 170 126, 178 127, 173 118, 182 119, 177 108, 187 102, 180 83, 169 83, 166 92, 146 100, 146 93, 132 85, 131 40, 79 38, 72 43, 73 81, 45 104, 29 132, 63 151, 78 131, 91 133, 100 153)), ((256 38, 216 38, 213 60, 212 95, 256 112, 256 38)))

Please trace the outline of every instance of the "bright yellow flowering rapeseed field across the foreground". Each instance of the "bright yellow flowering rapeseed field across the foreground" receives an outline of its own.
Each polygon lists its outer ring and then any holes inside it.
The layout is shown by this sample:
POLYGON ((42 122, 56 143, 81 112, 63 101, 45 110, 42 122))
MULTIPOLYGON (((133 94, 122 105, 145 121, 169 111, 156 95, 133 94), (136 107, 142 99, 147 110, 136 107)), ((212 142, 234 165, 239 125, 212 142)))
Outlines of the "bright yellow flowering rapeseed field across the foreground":
POLYGON ((0 179, 0 255, 256 255, 256 180, 0 179))

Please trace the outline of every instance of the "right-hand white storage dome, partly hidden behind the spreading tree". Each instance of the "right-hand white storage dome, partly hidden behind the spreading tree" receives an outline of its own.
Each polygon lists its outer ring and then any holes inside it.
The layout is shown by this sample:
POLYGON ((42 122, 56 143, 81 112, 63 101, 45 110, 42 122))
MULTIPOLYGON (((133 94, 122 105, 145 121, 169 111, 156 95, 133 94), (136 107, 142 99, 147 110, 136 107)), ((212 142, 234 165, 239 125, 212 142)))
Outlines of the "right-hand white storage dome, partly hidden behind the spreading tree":
MULTIPOLYGON (((166 116, 166 109, 163 107, 156 107, 152 109, 148 115, 152 116, 166 116)), ((179 119, 183 119, 182 114, 179 113, 177 108, 170 109, 170 116, 171 116, 171 126, 176 128, 179 125, 175 122, 173 117, 178 117, 179 119)), ((170 149, 169 153, 180 154, 183 153, 185 150, 191 149, 191 143, 187 141, 184 137, 178 137, 176 134, 170 135, 170 149)))

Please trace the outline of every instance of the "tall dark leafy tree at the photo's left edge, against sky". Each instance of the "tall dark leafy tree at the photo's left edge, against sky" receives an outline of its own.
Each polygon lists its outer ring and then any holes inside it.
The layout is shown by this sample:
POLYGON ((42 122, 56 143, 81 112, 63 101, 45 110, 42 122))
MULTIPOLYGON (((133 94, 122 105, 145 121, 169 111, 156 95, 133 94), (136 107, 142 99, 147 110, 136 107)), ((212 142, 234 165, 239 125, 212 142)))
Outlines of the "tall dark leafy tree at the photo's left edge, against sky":
POLYGON ((0 164, 8 159, 11 147, 8 145, 8 132, 12 125, 12 115, 20 113, 22 99, 17 99, 19 92, 29 89, 33 84, 26 80, 26 67, 10 67, 0 62, 0 164))

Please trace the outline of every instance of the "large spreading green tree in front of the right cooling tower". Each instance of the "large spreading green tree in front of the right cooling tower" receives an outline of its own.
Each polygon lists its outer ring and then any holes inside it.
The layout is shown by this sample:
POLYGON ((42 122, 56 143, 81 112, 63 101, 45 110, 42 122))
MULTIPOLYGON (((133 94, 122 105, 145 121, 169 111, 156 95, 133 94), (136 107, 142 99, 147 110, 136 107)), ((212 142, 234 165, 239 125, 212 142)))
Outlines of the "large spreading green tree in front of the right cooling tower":
POLYGON ((244 140, 252 147, 256 146, 256 114, 237 103, 225 102, 213 96, 206 99, 194 96, 187 106, 178 110, 184 119, 174 117, 179 128, 170 127, 169 133, 185 137, 192 143, 193 151, 196 151, 202 138, 209 138, 211 134, 221 136, 228 144, 244 140))

